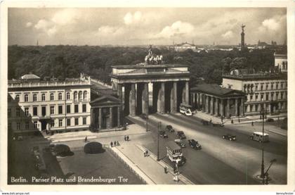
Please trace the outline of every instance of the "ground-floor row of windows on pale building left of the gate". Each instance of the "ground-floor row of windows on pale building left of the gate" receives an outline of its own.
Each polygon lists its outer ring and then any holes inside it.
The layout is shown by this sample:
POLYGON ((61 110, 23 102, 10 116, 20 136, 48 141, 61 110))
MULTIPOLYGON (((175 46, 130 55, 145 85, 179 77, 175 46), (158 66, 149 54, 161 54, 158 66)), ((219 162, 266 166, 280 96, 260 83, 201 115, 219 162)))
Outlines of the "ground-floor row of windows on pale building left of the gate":
MULTIPOLYGON (((34 121, 34 129, 38 129, 38 122, 34 121)), ((82 118, 82 125, 86 125, 87 123, 87 118, 84 117, 82 118)), ((55 126, 54 120, 51 120, 50 123, 51 127, 55 126)), ((79 118, 74 118, 74 124, 73 125, 79 125, 79 118)), ((67 126, 71 126, 71 119, 67 118, 67 126)), ((22 123, 21 122, 16 122, 16 130, 21 130, 22 123)), ((63 119, 58 120, 58 127, 63 127, 63 119)), ((11 122, 8 123, 8 129, 11 128, 11 122)), ((25 130, 29 130, 29 121, 25 122, 25 130)))

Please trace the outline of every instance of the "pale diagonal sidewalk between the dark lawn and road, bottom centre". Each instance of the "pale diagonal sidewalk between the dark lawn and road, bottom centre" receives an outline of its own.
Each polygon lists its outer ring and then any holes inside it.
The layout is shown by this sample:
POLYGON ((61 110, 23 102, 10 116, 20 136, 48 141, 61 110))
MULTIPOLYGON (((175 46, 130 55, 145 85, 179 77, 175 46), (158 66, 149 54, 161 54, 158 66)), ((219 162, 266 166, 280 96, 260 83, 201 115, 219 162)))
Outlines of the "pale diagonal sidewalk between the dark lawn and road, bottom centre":
POLYGON ((173 181, 173 169, 167 165, 167 173, 164 173, 164 166, 161 165, 163 162, 160 161, 159 163, 155 160, 155 155, 150 153, 150 151, 149 156, 145 157, 143 155, 143 148, 136 144, 124 143, 119 147, 113 147, 111 149, 122 159, 125 159, 125 162, 129 163, 129 166, 136 167, 138 175, 142 178, 147 178, 147 184, 188 184, 188 180, 184 180, 181 177, 178 177, 178 182, 173 181))

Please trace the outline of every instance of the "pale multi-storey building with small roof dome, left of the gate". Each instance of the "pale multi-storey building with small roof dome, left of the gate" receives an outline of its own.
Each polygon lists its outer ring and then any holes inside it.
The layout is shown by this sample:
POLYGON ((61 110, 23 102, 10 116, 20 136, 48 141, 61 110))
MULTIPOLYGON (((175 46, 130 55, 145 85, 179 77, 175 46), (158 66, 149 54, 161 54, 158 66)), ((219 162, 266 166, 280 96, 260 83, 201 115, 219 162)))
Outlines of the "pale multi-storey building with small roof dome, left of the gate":
POLYGON ((14 133, 89 130, 90 99, 90 77, 44 81, 29 74, 20 80, 9 80, 8 130, 14 133))

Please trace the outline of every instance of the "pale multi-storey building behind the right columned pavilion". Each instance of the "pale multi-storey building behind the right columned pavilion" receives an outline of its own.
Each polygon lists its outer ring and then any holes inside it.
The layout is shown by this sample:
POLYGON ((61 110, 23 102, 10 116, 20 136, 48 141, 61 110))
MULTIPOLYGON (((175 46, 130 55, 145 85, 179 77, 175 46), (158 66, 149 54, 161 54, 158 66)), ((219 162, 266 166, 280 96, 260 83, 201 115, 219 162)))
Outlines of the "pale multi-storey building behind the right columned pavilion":
POLYGON ((254 73, 223 75, 223 87, 247 94, 245 115, 259 115, 264 108, 269 114, 287 112, 287 74, 254 73))

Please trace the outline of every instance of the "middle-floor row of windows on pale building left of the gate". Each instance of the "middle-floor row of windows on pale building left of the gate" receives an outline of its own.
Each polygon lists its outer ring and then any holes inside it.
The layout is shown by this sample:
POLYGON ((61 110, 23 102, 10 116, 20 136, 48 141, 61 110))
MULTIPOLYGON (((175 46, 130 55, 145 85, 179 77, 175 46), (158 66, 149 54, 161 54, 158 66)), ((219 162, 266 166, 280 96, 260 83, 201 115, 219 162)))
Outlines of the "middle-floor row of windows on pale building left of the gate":
MULTIPOLYGON (((86 104, 82 104, 82 113, 86 113, 86 104)), ((11 108, 8 108, 8 118, 11 117, 11 108)), ((67 105, 67 113, 71 113, 71 105, 67 105)), ((74 113, 79 113, 79 105, 74 105, 74 113)), ((55 114, 55 106, 50 106, 50 114, 55 114)), ((63 114, 63 105, 58 106, 58 114, 63 114)), ((33 115, 38 115, 38 106, 33 106, 33 115)), ((41 107, 41 115, 46 115, 46 106, 41 107)), ((15 109, 15 116, 20 117, 20 108, 15 109)), ((25 116, 29 116, 29 108, 25 108, 25 116)))

